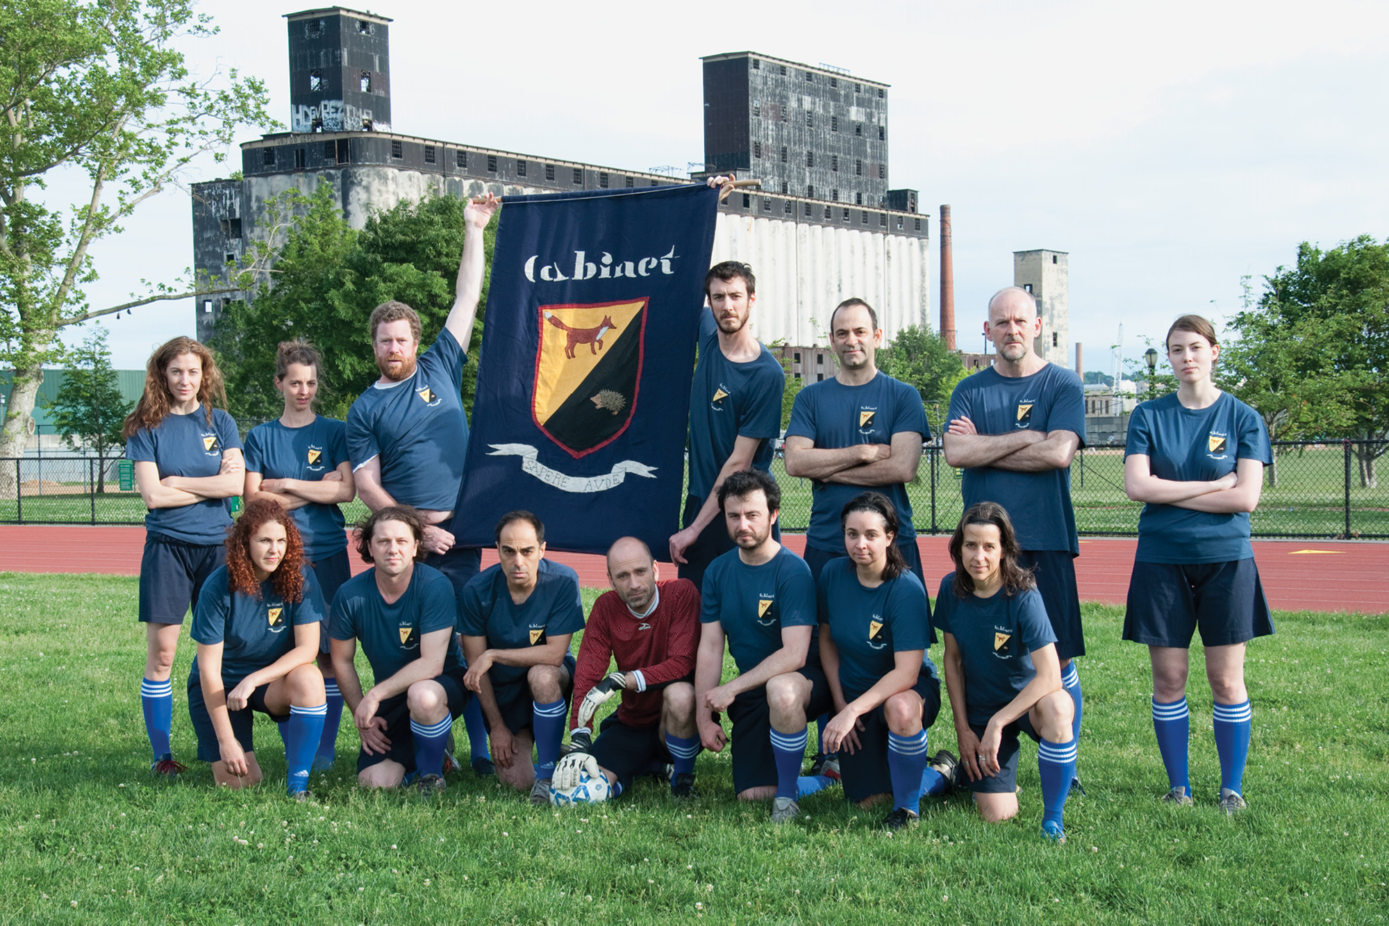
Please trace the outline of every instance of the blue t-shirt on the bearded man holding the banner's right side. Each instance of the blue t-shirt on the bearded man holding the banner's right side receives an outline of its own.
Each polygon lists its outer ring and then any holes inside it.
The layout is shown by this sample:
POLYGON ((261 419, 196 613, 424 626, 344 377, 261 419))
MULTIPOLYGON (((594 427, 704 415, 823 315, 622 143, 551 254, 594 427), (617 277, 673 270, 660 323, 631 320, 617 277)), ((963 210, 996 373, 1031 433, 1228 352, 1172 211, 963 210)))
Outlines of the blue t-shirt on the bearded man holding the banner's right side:
POLYGON ((733 363, 718 348, 714 313, 704 309, 699 328, 699 364, 690 384, 689 494, 708 498, 733 442, 757 438, 753 469, 772 466, 772 438, 781 434, 781 399, 786 373, 765 346, 756 360, 733 363))

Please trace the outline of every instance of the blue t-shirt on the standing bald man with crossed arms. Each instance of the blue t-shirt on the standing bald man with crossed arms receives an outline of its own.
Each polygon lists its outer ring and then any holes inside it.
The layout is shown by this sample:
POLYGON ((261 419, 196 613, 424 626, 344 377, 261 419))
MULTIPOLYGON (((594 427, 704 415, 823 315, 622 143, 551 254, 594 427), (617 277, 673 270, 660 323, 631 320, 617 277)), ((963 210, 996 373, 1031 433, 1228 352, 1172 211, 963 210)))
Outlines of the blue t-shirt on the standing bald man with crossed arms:
MULTIPOLYGON (((979 434, 1072 431, 1085 446, 1085 387, 1072 370, 1049 363, 1029 377, 986 367, 965 377, 950 396, 950 419, 970 419, 979 434)), ((964 471, 964 506, 996 502, 1008 512, 1018 545, 1081 555, 1071 507, 1071 470, 1014 473, 992 466, 964 471)))

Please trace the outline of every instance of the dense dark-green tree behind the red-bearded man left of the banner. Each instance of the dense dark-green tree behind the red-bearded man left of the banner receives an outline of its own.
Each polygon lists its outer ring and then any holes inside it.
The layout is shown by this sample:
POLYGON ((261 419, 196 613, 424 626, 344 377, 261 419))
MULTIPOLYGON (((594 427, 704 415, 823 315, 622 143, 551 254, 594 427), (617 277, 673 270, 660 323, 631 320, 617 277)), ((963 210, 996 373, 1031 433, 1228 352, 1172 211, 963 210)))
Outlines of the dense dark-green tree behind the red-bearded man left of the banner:
MULTIPOLYGON (((282 399, 274 389, 275 349, 281 341, 306 338, 324 357, 319 409, 346 417, 363 389, 379 375, 367 321, 382 302, 399 299, 419 313, 421 346, 443 330, 453 307, 463 253, 465 203, 450 196, 401 202, 375 213, 365 228, 353 231, 342 216, 340 199, 328 184, 313 195, 290 190, 268 204, 267 239, 257 242, 260 274, 250 302, 222 310, 210 346, 225 366, 231 412, 243 425, 278 417, 282 399), (285 242, 271 242, 285 228, 285 242), (271 264, 271 260, 274 263, 271 264)), ((483 238, 488 266, 496 227, 483 238)), ((482 346, 483 281, 469 353, 482 346)), ((464 370, 464 407, 472 410, 476 363, 464 370)))

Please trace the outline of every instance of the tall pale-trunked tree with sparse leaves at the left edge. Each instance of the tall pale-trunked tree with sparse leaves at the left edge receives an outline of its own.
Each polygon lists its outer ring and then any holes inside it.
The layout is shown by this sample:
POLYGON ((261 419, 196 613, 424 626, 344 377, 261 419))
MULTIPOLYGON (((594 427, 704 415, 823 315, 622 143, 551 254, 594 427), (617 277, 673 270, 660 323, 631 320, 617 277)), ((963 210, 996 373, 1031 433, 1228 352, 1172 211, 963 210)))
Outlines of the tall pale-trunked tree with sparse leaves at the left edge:
MULTIPOLYGON (((221 160, 240 125, 275 125, 261 81, 235 71, 194 79, 175 46, 215 32, 190 0, 25 0, 0 4, 0 360, 14 370, 0 456, 26 439, 58 331, 163 299, 238 288, 157 284, 92 309, 92 242, 167 189, 204 153, 221 160), (85 174, 83 195, 53 202, 49 179, 85 174)), ((0 471, 0 495, 14 492, 0 471)))

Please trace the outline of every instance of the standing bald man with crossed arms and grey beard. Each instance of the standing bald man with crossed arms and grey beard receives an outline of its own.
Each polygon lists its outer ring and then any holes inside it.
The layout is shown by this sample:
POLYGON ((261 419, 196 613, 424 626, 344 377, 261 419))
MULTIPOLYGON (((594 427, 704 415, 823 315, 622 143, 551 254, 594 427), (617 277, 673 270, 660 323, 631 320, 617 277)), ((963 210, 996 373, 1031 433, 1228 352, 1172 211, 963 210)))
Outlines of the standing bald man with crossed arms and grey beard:
POLYGON ((1008 512, 1022 546, 1022 564, 1036 576, 1046 605, 1061 684, 1075 701, 1081 734, 1081 677, 1072 659, 1085 655, 1075 558, 1081 553, 1071 506, 1071 460, 1085 445, 1085 388, 1074 371, 1039 357, 1036 300, 1021 286, 989 300, 983 335, 993 366, 956 387, 945 434, 946 463, 964 467, 964 506, 997 502, 1008 512))

